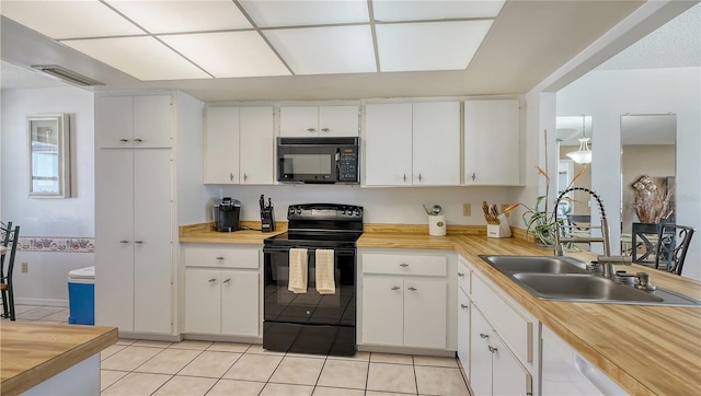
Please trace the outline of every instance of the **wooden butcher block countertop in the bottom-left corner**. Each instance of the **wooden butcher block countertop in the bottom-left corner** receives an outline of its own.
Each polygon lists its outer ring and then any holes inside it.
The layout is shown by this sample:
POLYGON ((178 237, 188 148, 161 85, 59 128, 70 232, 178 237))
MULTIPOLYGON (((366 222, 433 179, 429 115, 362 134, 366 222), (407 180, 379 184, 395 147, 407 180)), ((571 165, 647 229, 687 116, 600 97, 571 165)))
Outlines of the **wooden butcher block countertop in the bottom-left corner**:
POLYGON ((0 339, 0 389, 18 395, 117 342, 117 329, 3 321, 0 339))

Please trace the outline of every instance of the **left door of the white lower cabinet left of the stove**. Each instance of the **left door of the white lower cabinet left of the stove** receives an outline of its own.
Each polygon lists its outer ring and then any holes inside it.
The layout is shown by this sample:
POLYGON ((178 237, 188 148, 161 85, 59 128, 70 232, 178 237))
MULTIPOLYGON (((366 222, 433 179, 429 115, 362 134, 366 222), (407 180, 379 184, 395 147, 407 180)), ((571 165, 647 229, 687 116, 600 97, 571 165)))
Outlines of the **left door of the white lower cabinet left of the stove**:
POLYGON ((221 272, 185 271, 185 331, 219 334, 221 323, 221 272))

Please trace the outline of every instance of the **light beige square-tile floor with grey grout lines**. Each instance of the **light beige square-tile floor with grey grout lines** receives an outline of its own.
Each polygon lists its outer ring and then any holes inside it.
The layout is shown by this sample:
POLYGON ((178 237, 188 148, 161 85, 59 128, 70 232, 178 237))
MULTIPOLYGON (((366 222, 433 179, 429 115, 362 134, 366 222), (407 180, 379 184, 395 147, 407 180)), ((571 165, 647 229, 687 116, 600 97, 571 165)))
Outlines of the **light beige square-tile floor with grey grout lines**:
MULTIPOLYGON (((16 318, 66 323, 68 308, 18 305, 16 318)), ((470 396, 455 358, 344 358, 249 343, 119 339, 101 361, 102 395, 470 396)))

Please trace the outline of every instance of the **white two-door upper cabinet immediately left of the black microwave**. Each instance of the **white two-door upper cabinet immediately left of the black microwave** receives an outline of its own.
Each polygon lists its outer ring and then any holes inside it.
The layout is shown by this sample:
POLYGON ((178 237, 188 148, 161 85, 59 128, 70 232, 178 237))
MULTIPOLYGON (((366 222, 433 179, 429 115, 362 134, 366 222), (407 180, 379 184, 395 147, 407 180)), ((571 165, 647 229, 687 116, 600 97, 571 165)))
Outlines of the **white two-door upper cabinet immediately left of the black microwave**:
POLYGON ((208 107, 205 183, 273 184, 273 106, 208 107))

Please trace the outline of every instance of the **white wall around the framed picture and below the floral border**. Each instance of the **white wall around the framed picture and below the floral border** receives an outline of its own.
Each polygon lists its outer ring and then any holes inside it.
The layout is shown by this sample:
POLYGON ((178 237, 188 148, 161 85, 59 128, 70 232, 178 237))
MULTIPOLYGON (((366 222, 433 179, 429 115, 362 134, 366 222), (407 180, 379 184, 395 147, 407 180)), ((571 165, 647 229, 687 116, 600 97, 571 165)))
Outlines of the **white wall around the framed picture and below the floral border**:
MULTIPOLYGON (((2 90, 3 221, 20 236, 94 237, 93 94, 81 89, 2 90), (28 197, 26 116, 71 114, 72 197, 28 197)), ((93 265, 92 253, 19 252, 14 286, 18 302, 66 303, 71 269, 93 265), (28 263, 28 272, 21 263, 28 263)))

